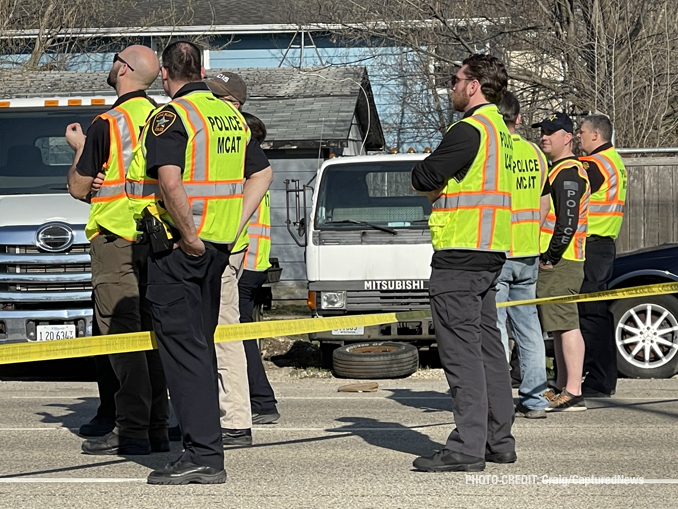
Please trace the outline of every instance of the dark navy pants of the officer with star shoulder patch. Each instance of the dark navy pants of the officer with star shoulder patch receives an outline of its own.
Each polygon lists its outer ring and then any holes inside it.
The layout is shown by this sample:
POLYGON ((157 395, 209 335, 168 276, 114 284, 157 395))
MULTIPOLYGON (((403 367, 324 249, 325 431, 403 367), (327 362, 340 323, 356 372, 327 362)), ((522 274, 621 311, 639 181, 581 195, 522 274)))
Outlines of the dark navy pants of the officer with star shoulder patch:
POLYGON ((146 295, 184 442, 181 459, 222 469, 214 331, 228 252, 209 242, 205 247, 199 257, 181 249, 162 257, 150 253, 146 295))

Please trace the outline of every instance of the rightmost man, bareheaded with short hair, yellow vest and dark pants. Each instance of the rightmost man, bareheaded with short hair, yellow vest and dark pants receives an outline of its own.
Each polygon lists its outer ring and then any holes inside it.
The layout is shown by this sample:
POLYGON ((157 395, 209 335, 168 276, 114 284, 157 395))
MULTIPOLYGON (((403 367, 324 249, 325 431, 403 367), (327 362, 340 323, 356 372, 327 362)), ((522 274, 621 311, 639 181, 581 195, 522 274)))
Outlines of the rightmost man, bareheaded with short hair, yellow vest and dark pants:
MULTIPOLYGON (((605 115, 589 115, 577 134, 580 157, 591 181, 589 229, 582 293, 607 290, 616 256, 626 202, 626 169, 612 145, 612 122, 605 115)), ((579 324, 586 355, 582 385, 585 398, 610 397, 617 388, 617 352, 614 324, 606 302, 579 304, 579 324)))

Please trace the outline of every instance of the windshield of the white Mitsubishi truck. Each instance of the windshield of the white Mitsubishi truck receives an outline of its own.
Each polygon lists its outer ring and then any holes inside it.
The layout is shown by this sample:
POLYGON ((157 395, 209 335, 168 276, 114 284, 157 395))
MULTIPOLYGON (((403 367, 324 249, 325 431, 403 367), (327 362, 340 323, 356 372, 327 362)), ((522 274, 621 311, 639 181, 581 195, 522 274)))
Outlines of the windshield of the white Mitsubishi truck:
POLYGON ((336 164, 325 169, 315 216, 320 230, 365 229, 360 222, 426 228, 431 204, 410 186, 415 161, 336 164))

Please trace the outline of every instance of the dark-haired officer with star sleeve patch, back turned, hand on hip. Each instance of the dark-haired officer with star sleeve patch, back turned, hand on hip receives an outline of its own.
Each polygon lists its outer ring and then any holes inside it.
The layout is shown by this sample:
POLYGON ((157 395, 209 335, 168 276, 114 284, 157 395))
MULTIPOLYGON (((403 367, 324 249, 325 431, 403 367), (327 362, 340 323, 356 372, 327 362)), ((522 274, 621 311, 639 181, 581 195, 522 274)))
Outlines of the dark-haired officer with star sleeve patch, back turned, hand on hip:
POLYGON ((272 171, 245 178, 249 130, 201 81, 200 48, 171 43, 161 72, 172 101, 146 124, 126 192, 151 242, 147 297, 184 453, 148 482, 223 483, 214 348, 221 275, 272 171))

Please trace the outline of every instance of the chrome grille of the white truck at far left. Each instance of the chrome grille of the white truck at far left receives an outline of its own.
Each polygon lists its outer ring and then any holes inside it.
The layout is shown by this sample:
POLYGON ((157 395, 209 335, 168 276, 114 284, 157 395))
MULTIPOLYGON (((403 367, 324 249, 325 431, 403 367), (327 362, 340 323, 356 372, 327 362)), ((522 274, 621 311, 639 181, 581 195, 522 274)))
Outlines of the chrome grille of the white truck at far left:
MULTIPOLYGON (((37 293, 39 300, 45 296, 61 300, 59 292, 81 292, 76 300, 85 300, 82 292, 91 292, 91 280, 88 244, 75 244, 61 253, 44 253, 35 246, 0 245, 0 302, 32 301, 27 294, 37 293)), ((69 300, 72 297, 70 294, 69 300)))

